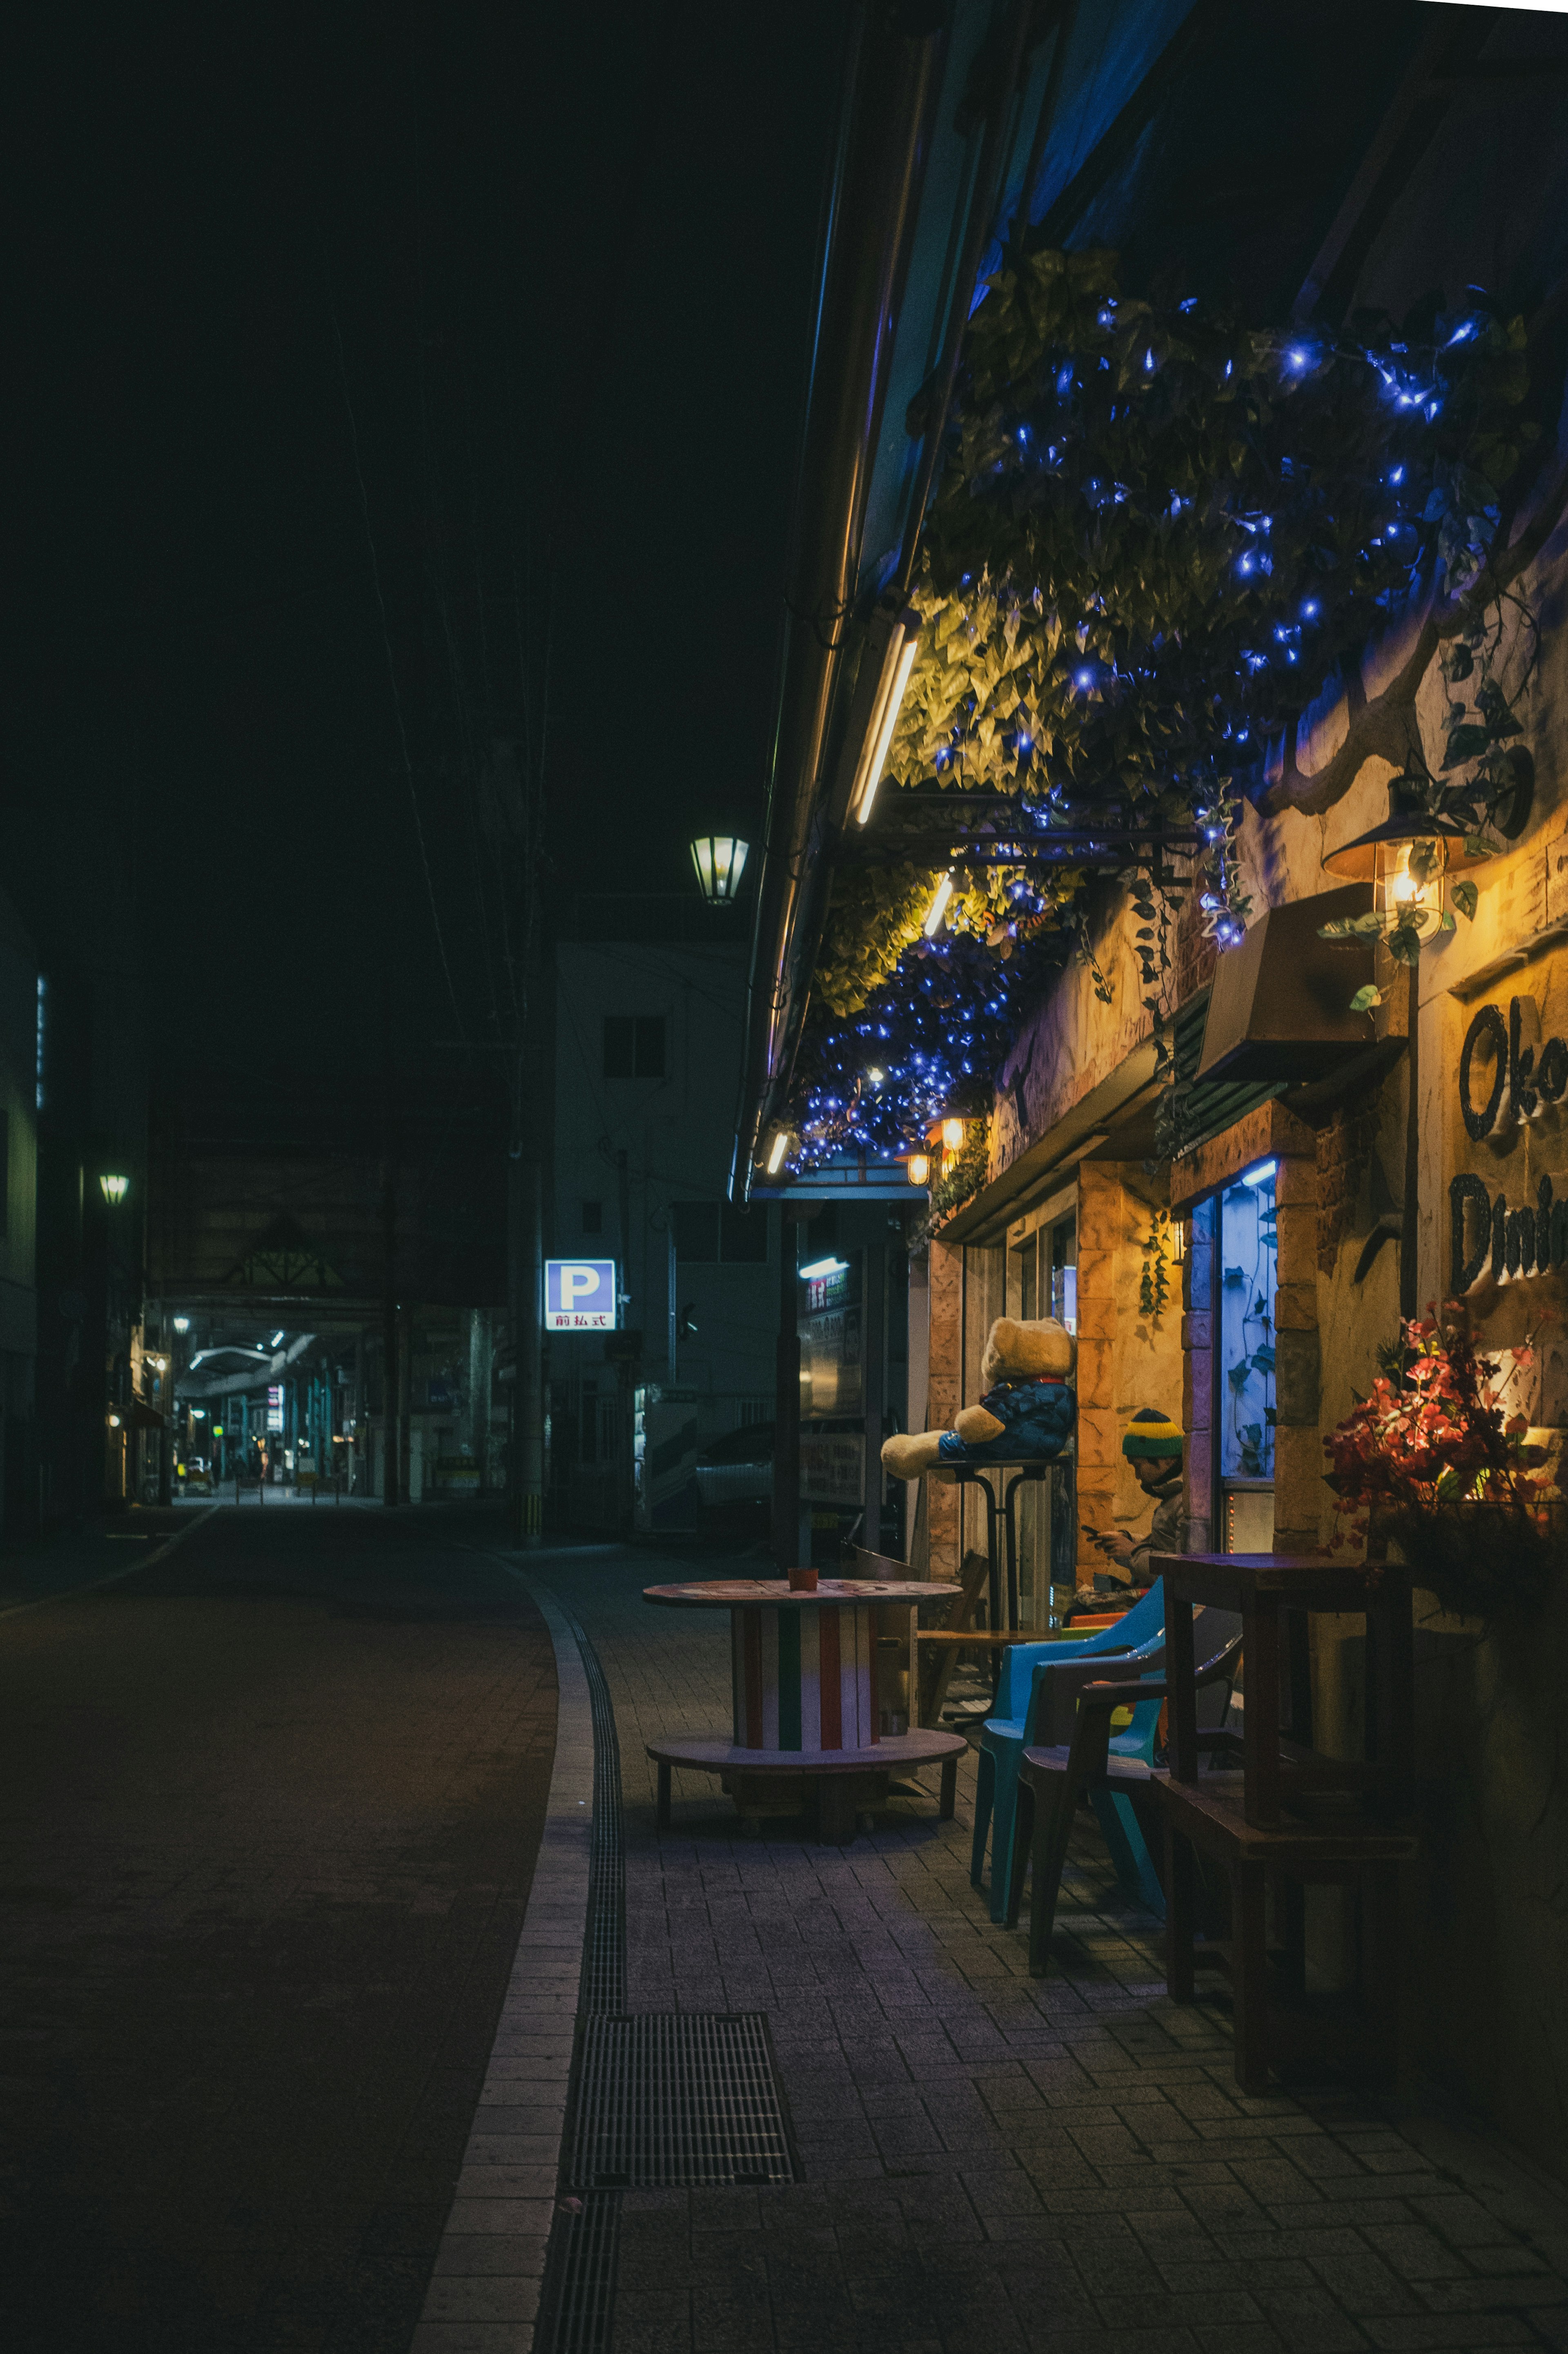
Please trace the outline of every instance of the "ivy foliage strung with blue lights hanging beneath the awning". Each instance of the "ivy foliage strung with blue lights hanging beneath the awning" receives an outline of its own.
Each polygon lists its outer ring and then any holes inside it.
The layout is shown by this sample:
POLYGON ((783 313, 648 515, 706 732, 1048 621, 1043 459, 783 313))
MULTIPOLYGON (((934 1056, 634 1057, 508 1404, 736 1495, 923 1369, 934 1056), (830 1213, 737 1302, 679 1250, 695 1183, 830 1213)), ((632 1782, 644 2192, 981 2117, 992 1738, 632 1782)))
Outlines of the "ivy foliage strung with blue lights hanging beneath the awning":
MULTIPOLYGON (((1269 744, 1434 577, 1483 577, 1535 438, 1526 393, 1521 322, 1481 306, 1318 337, 1125 297, 1107 252, 1005 268, 965 339, 883 796, 1008 793, 1019 829, 1043 836, 1194 829, 1203 925, 1229 946, 1248 916, 1234 824, 1269 744)), ((1420 742, 1410 756, 1427 805, 1476 826, 1511 791, 1497 643, 1481 629, 1448 654, 1441 774, 1420 742)), ((855 1130, 881 1149, 918 1132, 892 1130, 897 1092, 866 1106, 843 1022, 873 1012, 888 1038, 913 1017, 918 1031, 937 880, 897 869, 836 885, 796 1080, 808 1156, 855 1130)), ((968 1076, 991 1052, 994 1078, 1010 1043, 1012 1026, 982 1045, 982 1008, 1019 942, 1050 935, 1041 970, 1074 935, 1088 944, 1083 883, 1031 864, 954 895, 946 930, 979 951, 954 965, 970 996, 949 998, 975 1031, 968 1076)), ((1158 1022, 1168 911, 1147 876, 1135 899, 1158 1022)))

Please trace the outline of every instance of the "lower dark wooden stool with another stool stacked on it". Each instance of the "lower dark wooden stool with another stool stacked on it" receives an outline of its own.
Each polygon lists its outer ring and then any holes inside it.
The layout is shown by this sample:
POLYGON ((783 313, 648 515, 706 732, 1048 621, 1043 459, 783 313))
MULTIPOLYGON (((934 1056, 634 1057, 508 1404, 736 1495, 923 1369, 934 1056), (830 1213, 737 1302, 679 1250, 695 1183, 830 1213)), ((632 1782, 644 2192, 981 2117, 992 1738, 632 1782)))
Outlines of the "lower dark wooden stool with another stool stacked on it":
POLYGON ((1389 2083, 1398 2057, 1398 1864, 1415 1855, 1415 1834, 1366 1815, 1260 1827, 1248 1822, 1241 1773, 1158 1780, 1151 1789, 1165 1817, 1165 1989, 1175 2003, 1191 2003, 1198 1963, 1227 1973, 1243 2093, 1267 2090, 1269 2062, 1293 2057, 1333 2057, 1354 2064, 1363 2081, 1389 2083), (1212 1857, 1229 1878, 1229 1944, 1196 1944, 1194 1855, 1212 1857), (1349 2017, 1304 2015, 1271 2001, 1264 1933, 1271 1871, 1307 1886, 1361 1888, 1361 2003, 1349 2017))

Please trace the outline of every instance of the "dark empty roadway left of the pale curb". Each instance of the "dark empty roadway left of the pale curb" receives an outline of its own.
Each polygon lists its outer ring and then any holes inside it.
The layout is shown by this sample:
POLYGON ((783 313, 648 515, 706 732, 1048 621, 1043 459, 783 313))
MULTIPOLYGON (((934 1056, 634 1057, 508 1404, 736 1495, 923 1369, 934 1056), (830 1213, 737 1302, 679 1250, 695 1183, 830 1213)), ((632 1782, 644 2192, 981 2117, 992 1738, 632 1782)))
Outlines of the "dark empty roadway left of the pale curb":
POLYGON ((407 2347, 556 1740, 499 1542, 219 1509, 0 1622, 9 2354, 407 2347))

